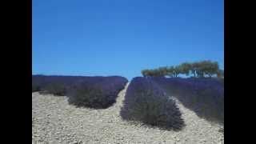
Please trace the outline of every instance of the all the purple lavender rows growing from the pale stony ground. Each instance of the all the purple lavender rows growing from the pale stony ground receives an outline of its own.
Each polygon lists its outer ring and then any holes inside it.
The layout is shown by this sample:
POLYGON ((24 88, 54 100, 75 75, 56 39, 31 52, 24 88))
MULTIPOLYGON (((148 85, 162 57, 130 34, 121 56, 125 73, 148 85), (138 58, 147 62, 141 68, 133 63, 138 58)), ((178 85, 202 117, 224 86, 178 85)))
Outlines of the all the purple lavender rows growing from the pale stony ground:
MULTIPOLYGON (((33 76, 32 90, 66 95, 70 104, 107 108, 126 85, 123 77, 33 76)), ((123 119, 180 130, 181 112, 170 96, 198 116, 224 121, 223 81, 214 78, 133 78, 120 112, 123 119)))

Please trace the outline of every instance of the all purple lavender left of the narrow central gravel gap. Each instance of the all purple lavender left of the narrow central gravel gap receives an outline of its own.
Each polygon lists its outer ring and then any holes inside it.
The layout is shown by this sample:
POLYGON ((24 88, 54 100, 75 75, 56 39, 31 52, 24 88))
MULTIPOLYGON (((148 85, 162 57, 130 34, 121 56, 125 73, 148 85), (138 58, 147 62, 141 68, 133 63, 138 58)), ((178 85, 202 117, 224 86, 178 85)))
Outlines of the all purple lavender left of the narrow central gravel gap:
POLYGON ((32 75, 32 92, 66 95, 70 104, 91 108, 111 106, 127 79, 119 76, 44 76, 32 75))

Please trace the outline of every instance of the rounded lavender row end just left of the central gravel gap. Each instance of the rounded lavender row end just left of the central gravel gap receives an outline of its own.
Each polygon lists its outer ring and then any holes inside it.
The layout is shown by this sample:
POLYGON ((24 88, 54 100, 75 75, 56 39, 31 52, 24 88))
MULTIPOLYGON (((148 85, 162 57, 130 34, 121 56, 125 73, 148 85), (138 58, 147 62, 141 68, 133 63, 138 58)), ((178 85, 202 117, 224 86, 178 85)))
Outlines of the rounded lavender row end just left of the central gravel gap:
POLYGON ((70 87, 67 95, 75 106, 104 109, 116 102, 126 82, 126 78, 118 76, 82 78, 70 87))

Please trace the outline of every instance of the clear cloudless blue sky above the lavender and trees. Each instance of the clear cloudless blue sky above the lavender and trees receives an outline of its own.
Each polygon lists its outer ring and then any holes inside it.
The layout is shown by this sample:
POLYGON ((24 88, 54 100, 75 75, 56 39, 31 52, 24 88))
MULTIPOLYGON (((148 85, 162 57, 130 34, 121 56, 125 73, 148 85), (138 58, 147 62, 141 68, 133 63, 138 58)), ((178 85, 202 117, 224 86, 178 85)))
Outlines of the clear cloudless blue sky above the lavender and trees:
POLYGON ((122 75, 224 65, 223 0, 33 0, 32 73, 122 75))

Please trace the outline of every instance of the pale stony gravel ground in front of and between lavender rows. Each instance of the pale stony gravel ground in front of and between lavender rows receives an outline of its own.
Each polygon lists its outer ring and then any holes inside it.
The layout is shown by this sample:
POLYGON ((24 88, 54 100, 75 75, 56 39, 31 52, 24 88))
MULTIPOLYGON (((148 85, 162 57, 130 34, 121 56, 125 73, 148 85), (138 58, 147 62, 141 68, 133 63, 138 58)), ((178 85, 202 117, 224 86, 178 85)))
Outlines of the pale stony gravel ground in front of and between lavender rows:
POLYGON ((114 106, 105 110, 76 108, 68 104, 66 97, 32 93, 32 142, 223 143, 223 134, 218 132, 218 124, 198 118, 176 99, 186 123, 183 130, 174 132, 130 125, 119 115, 126 88, 120 92, 114 106))

